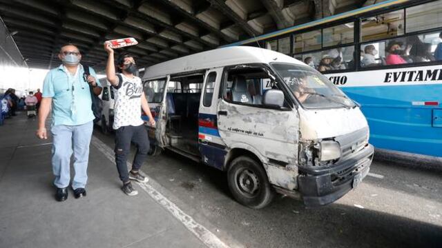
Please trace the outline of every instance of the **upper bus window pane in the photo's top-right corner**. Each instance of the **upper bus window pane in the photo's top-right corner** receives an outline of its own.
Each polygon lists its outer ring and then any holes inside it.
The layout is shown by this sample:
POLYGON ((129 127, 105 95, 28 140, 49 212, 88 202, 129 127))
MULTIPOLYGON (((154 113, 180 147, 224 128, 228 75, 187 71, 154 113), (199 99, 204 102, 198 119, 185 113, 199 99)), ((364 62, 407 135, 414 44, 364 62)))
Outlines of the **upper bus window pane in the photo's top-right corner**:
POLYGON ((406 32, 416 32, 442 26, 442 1, 425 3, 405 9, 406 32))

